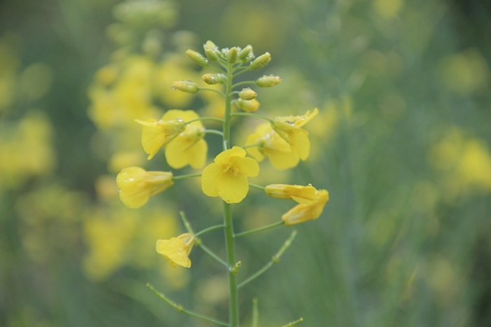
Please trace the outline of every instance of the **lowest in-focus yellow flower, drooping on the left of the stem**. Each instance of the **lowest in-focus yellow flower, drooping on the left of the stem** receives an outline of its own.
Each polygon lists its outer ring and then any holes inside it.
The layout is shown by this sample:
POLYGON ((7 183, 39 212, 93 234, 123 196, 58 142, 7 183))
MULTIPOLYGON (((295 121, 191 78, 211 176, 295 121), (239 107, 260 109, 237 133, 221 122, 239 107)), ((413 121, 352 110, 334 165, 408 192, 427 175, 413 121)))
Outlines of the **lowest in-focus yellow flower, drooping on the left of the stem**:
POLYGON ((156 242, 155 249, 164 258, 169 260, 170 265, 177 267, 191 267, 191 260, 187 256, 193 249, 194 236, 189 232, 181 234, 170 239, 159 239, 156 242))

